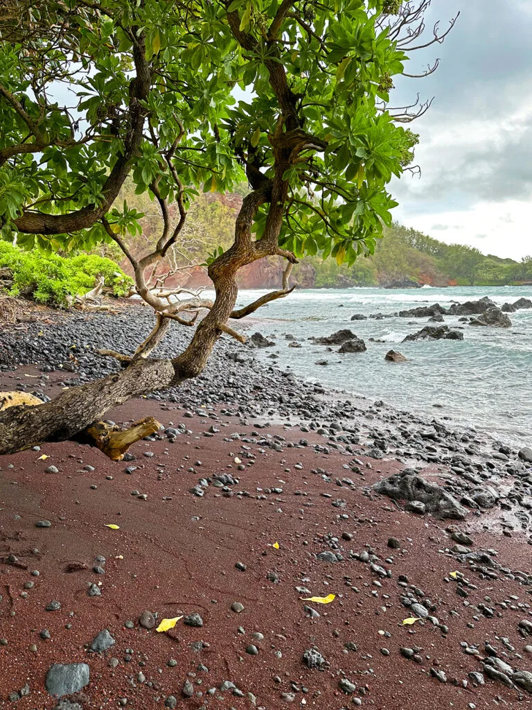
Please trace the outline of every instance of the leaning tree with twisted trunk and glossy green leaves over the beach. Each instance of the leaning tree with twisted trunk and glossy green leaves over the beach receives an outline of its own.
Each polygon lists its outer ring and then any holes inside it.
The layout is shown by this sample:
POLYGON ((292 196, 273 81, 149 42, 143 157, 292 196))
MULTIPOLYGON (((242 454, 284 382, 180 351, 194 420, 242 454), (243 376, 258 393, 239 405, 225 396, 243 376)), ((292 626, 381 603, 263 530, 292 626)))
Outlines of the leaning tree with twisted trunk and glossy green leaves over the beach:
POLYGON ((221 334, 242 341, 228 320, 290 293, 304 253, 348 264, 372 253, 397 204, 387 185, 417 142, 401 123, 420 111, 387 108, 393 77, 412 50, 440 42, 454 23, 419 39, 429 4, 10 0, 0 15, 4 239, 65 252, 115 241, 156 317, 133 357, 116 354, 126 365, 120 373, 0 414, 0 453, 80 436, 105 449, 95 420, 196 376, 221 334), (247 94, 235 105, 236 84, 247 94), (145 272, 178 239, 196 188, 228 190, 243 173, 251 191, 233 244, 209 264, 216 300, 157 298, 145 272), (140 259, 123 237, 138 231, 141 215, 115 204, 130 174, 163 218, 140 259), (282 288, 235 310, 236 273, 271 255, 287 260, 282 288), (208 312, 187 349, 150 359, 170 324, 192 326, 200 308, 208 312))

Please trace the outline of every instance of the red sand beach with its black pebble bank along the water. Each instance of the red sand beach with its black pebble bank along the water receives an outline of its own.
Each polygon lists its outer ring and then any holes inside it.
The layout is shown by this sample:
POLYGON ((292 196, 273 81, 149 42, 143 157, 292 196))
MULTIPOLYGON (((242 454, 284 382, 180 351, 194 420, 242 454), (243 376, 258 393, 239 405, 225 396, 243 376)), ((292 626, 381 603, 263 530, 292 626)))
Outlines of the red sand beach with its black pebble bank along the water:
MULTIPOLYGON (((99 376, 116 364, 96 361, 83 339, 94 343, 118 332, 120 342, 107 346, 134 348, 133 332, 140 338, 138 323, 149 327, 149 319, 148 310, 89 321, 74 315, 43 336, 38 322, 27 332, 4 331, 4 368, 45 350, 48 367, 56 365, 74 338, 83 354, 74 372, 5 369, 0 390, 24 386, 53 396, 80 373, 99 376)), ((168 349, 186 335, 172 334, 168 349)), ((299 381, 225 338, 196 381, 132 400, 108 416, 125 422, 148 415, 179 433, 138 442, 131 463, 113 464, 72 442, 0 459, 3 700, 28 682, 17 707, 55 708, 43 685, 53 662, 89 664, 91 682, 74 698, 84 708, 117 706, 124 698, 126 706, 161 708, 171 696, 179 707, 272 710, 294 704, 340 710, 353 700, 389 710, 450 702, 487 708, 497 697, 508 704, 529 699, 519 684, 490 680, 483 662, 488 639, 514 669, 532 670, 526 625, 520 626, 531 616, 532 464, 515 449, 299 381), (41 460, 43 454, 48 458, 41 460), (58 472, 46 473, 49 466, 58 472), (372 488, 404 469, 416 469, 457 501, 469 498, 465 520, 411 513, 404 501, 372 488), (234 483, 215 485, 214 476, 224 473, 234 483), (476 489, 493 491, 493 501, 484 495, 481 506, 476 489), (43 519, 50 528, 35 527, 43 519), (451 537, 457 531, 470 535, 471 544, 457 545, 451 537), (397 547, 389 547, 392 538, 397 547), (326 551, 339 555, 336 562, 319 559, 326 551), (92 570, 98 555, 107 560, 105 574, 92 570), (39 577, 31 577, 32 569, 39 577), (449 576, 453 571, 458 580, 449 576), (28 581, 34 584, 26 591, 28 581), (87 596, 88 585, 98 582, 101 596, 87 596), (309 603, 319 614, 309 616, 301 597, 311 594, 297 586, 336 599, 309 603), (47 612, 52 599, 61 608, 47 612), (401 626, 413 600, 438 623, 401 626), (245 607, 240 614, 231 611, 235 601, 245 607), (157 634, 138 625, 145 610, 159 618, 196 612, 204 626, 180 621, 157 634), (50 639, 39 635, 43 628, 50 639), (84 645, 105 628, 113 648, 87 651, 84 645), (256 655, 246 651, 250 645, 256 655), (321 671, 301 662, 313 646, 326 660, 321 671), (419 660, 401 648, 419 648, 413 650, 419 660), (114 658, 118 664, 110 665, 114 658), (172 659, 177 663, 167 665, 172 659), (475 672, 484 674, 485 685, 475 687, 469 675, 475 672), (187 679, 191 698, 182 694, 187 679), (353 694, 339 685, 343 679, 355 686, 353 694), (221 690, 224 681, 243 697, 221 690)))

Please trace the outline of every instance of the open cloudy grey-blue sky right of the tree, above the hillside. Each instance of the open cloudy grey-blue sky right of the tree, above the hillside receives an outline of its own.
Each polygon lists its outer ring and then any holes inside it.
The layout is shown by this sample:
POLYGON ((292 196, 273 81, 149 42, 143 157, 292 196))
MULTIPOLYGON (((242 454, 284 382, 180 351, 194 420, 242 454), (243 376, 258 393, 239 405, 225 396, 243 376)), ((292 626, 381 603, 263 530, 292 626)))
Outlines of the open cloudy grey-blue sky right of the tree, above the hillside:
MULTIPOLYGON (((435 239, 483 253, 532 255, 532 0, 432 0, 427 38, 460 11, 443 44, 411 54, 392 104, 434 97, 409 124, 419 133, 414 163, 391 186, 394 219, 435 239)), ((406 127, 406 126, 405 126, 406 127)))

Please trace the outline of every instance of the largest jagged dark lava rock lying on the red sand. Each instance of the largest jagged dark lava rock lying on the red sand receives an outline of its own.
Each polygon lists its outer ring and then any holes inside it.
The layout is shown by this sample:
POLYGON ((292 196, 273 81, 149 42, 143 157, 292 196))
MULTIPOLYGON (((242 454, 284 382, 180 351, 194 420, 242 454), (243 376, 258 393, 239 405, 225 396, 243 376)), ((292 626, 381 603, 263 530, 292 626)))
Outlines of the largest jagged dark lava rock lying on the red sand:
POLYGON ((377 493, 394 500, 419 501, 424 503, 427 513, 438 518, 463 520, 467 510, 437 484, 433 484, 416 474, 412 469, 404 469, 373 486, 377 493))

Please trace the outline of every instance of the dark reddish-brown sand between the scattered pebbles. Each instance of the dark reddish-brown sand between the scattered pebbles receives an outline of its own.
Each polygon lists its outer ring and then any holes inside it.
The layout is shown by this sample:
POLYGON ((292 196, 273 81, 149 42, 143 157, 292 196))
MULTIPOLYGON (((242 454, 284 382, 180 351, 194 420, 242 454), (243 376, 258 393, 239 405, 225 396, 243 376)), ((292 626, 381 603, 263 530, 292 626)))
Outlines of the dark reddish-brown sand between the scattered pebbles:
MULTIPOLYGON (((12 378, 1 376, 0 389, 13 386, 12 378)), ((489 596, 490 606, 494 606, 511 595, 519 597, 514 605, 528 603, 526 587, 502 577, 496 581, 478 579, 464 565, 438 552, 452 544, 445 532, 450 521, 419 518, 398 510, 386 498, 364 495, 362 486, 389 475, 400 464, 361 457, 375 466, 366 469, 362 479, 342 468, 351 458, 337 452, 315 454, 310 447, 261 452, 257 444, 245 444, 255 454, 255 463, 248 464, 242 456, 242 442, 224 442, 223 437, 233 432, 250 435, 253 425, 221 417, 228 426, 221 427, 214 437, 205 437, 203 432, 212 420, 196 416, 182 420, 181 412, 162 411, 151 400, 133 401, 109 414, 116 421, 148 415, 155 415, 166 426, 183 421, 194 433, 178 437, 175 444, 167 440, 139 442, 131 449, 138 457, 132 464, 113 464, 96 449, 70 442, 45 444, 42 452, 0 458, 0 557, 4 559, 0 562, 0 638, 9 641, 0 645, 2 706, 11 706, 9 692, 28 682, 31 693, 13 707, 54 708, 56 701, 44 689, 48 667, 55 662, 85 660, 91 668, 91 681, 82 697, 85 710, 118 707, 123 697, 128 699, 127 707, 134 709, 162 708, 169 694, 177 697, 179 708, 251 707, 249 699, 233 697, 228 691, 206 694, 209 687, 219 687, 226 679, 245 694, 255 694, 257 706, 268 710, 291 706, 340 710, 354 707, 353 698, 360 698, 363 707, 377 710, 467 709, 470 703, 477 709, 517 706, 519 692, 488 679, 479 689, 471 684, 467 689, 462 687, 467 673, 482 667, 479 660, 462 652, 460 642, 478 644, 482 653, 484 640, 490 639, 504 652, 495 637, 507 636, 523 660, 514 660, 515 654, 509 652, 505 660, 522 670, 532 670, 532 660, 523 653, 526 640, 518 633, 521 618, 530 616, 528 608, 503 610, 495 606, 496 618, 479 615, 475 621, 476 610, 464 606, 456 584, 444 577, 454 569, 465 572, 478 586, 470 590, 467 602, 471 604, 489 596), (155 455, 143 457, 144 450, 155 455), (41 454, 49 458, 39 460, 41 454), (234 458, 238 455, 248 464, 244 471, 237 470, 234 458), (188 472, 196 460, 202 465, 188 472), (302 469, 294 468, 299 462, 302 469), (44 472, 51 464, 59 474, 44 472), (84 471, 87 464, 96 470, 84 471), (140 468, 128 475, 124 473, 128 465, 140 468), (311 474, 318 466, 326 469, 333 481, 352 477, 355 490, 326 484, 311 474), (267 500, 226 498, 213 486, 204 498, 189 493, 201 476, 224 471, 240 478, 235 491, 256 495, 257 487, 278 486, 283 492, 270 493, 267 500), (106 480, 106 475, 113 479, 106 480), (131 496, 135 489, 147 493, 148 500, 131 496), (296 491, 304 495, 294 495, 296 491), (345 509, 331 505, 336 498, 345 499, 345 509), (282 513, 277 512, 279 508, 282 513), (343 514, 348 519, 339 517, 343 514), (52 527, 35 528, 35 522, 42 519, 50 520, 52 527), (115 523, 120 530, 110 530, 106 523, 115 523), (329 549, 322 536, 331 533, 341 538, 343 532, 353 535, 350 542, 340 540, 345 561, 317 561, 314 555, 329 549), (402 550, 387 548, 390 536, 401 540, 402 550), (279 550, 272 547, 276 541, 279 550), (380 580, 382 587, 376 586, 379 578, 369 565, 349 559, 349 550, 360 552, 365 545, 371 545, 383 560, 394 558, 393 564, 384 563, 392 569, 393 577, 380 580), (33 554, 34 548, 38 553, 33 554), (9 554, 16 555, 28 569, 7 564, 9 554), (105 576, 92 572, 96 555, 107 559, 105 576), (66 572, 72 562, 86 569, 66 572), (246 571, 235 569, 236 562, 245 563, 246 571), (31 577, 32 569, 38 569, 40 576, 31 577), (270 571, 278 574, 279 584, 267 579, 270 571), (401 626, 410 614, 400 603, 404 590, 397 584, 399 574, 406 574, 411 584, 437 604, 436 616, 449 627, 447 638, 431 623, 401 626), (345 577, 358 593, 346 585, 345 577), (26 581, 34 581, 35 586, 23 599, 20 595, 26 581), (89 582, 98 581, 102 596, 89 598, 89 582), (327 606, 311 603, 321 616, 307 618, 297 585, 308 587, 313 595, 332 592, 337 597, 327 606), (61 602, 60 611, 45 611, 52 599, 61 602), (234 601, 243 603, 243 613, 231 611, 234 601), (145 609, 157 611, 160 618, 197 611, 204 627, 191 628, 180 621, 169 633, 144 630, 138 627, 138 618, 145 609), (452 610, 458 615, 451 615, 452 610), (135 628, 125 628, 126 620, 134 621, 135 628), (468 622, 475 628, 467 628, 468 622), (70 630, 65 628, 67 624, 72 625, 70 630), (240 626, 245 633, 238 633, 240 626), (50 631, 51 640, 40 638, 43 628, 50 631), (116 645, 103 655, 87 652, 86 645, 104 628, 110 630, 116 645), (255 631, 265 638, 256 644, 258 655, 251 656, 245 648, 255 643, 251 638, 255 631), (380 631, 389 632, 390 638, 380 631), (189 645, 199 640, 205 642, 204 650, 192 650, 189 645), (348 641, 357 644, 358 651, 345 652, 348 641), (32 644, 36 652, 31 650, 32 644), (330 663, 328 670, 308 670, 302 664, 304 650, 313 645, 330 663), (401 646, 414 645, 422 648, 423 664, 399 654, 401 646), (131 662, 123 660, 128 648, 133 649, 131 662), (390 655, 382 655, 381 648, 389 649, 390 655), (109 667, 111 657, 119 659, 114 669, 109 667), (170 658, 177 660, 176 667, 167 667, 170 658), (209 668, 208 673, 196 672, 199 662, 209 668), (431 667, 443 668, 448 683, 430 677, 431 667), (140 671, 153 687, 136 681, 140 671), (189 672, 196 674, 190 679, 203 697, 182 697, 189 672), (340 692, 341 674, 357 685, 353 697, 340 692), (281 682, 275 681, 276 676, 281 682), (291 682, 305 686, 308 692, 296 692, 294 702, 287 704, 280 695, 293 692, 291 682), (217 699, 222 695, 223 699, 217 699)), ((302 436, 311 443, 326 443, 323 437, 301 435, 295 428, 288 432, 281 428, 260 430, 261 436, 275 433, 296 443, 302 436)), ((475 530, 478 519, 469 517, 471 520, 457 527, 475 530)), ((501 564, 526 569, 530 548, 519 536, 509 540, 475 531, 474 537, 474 550, 482 542, 499 550, 501 564)), ((530 697, 522 694, 526 697, 520 705, 529 704, 530 697)))

